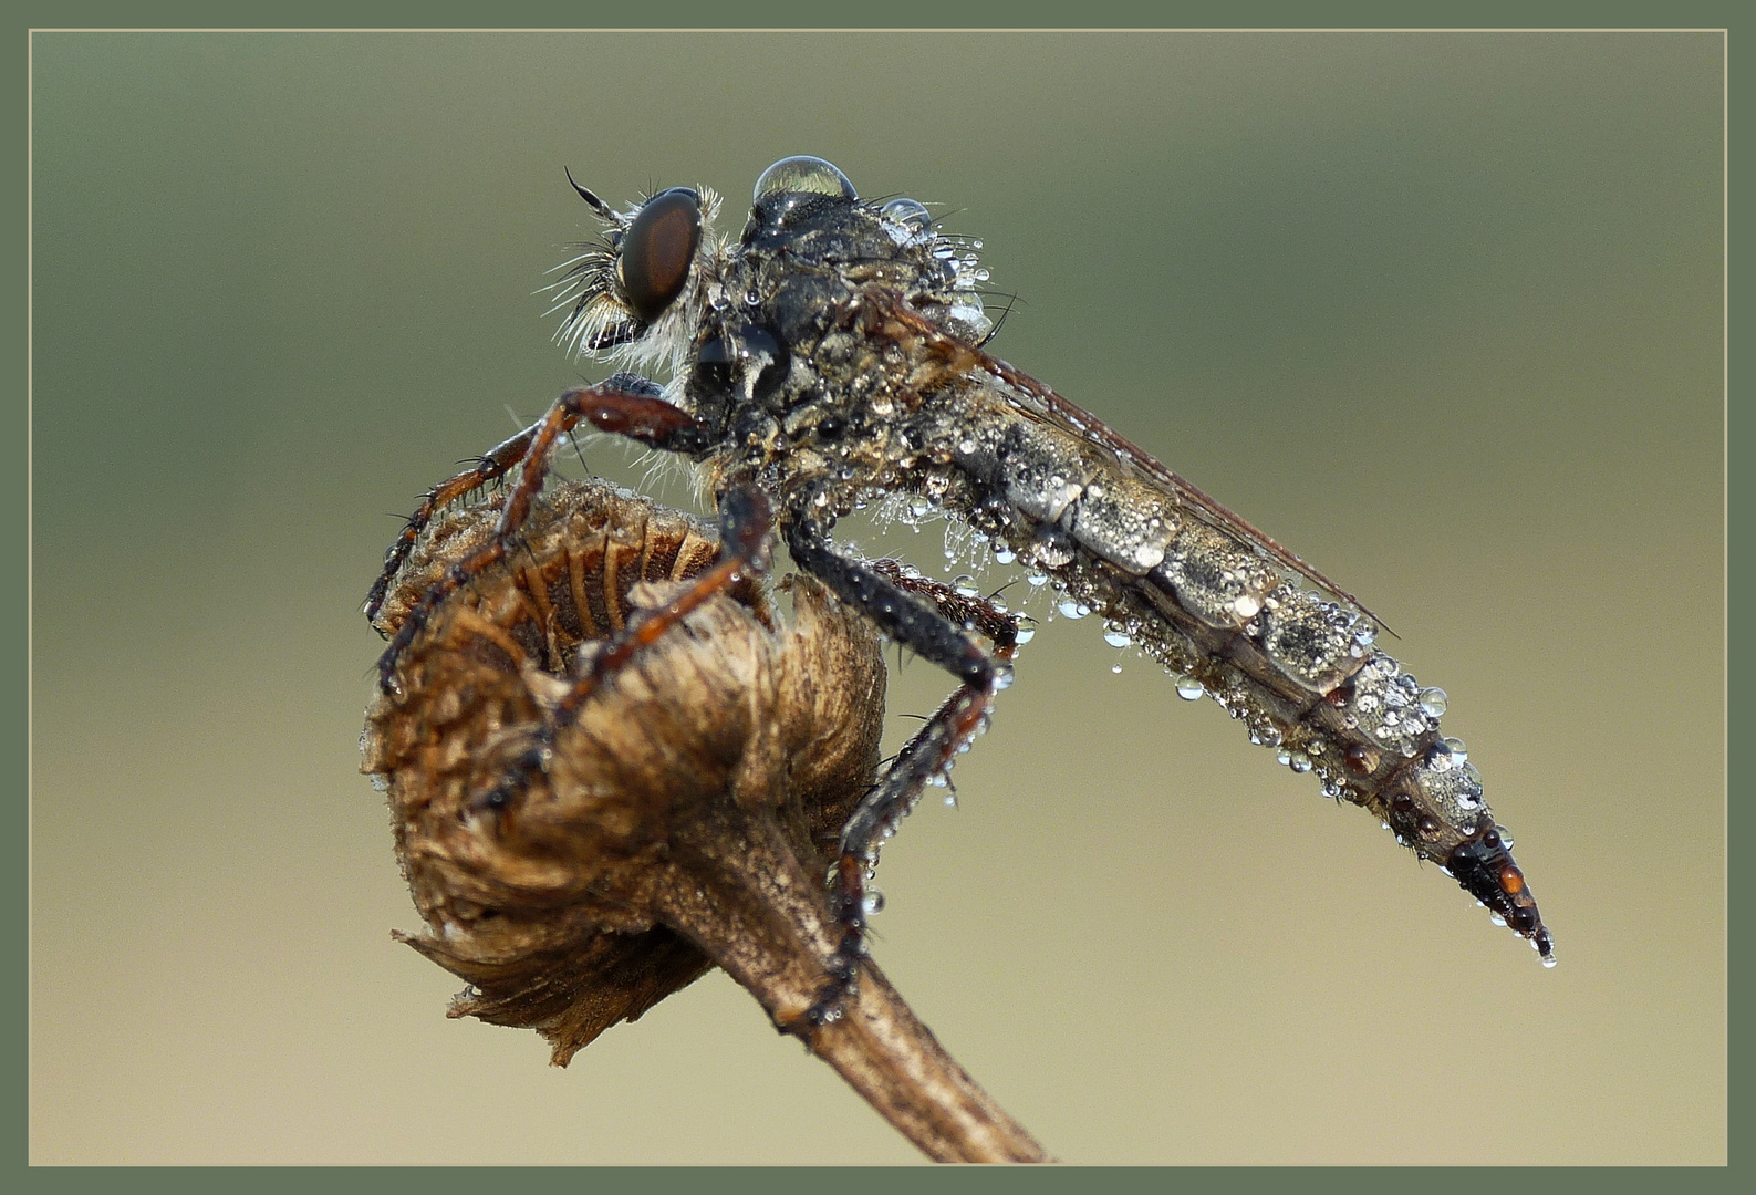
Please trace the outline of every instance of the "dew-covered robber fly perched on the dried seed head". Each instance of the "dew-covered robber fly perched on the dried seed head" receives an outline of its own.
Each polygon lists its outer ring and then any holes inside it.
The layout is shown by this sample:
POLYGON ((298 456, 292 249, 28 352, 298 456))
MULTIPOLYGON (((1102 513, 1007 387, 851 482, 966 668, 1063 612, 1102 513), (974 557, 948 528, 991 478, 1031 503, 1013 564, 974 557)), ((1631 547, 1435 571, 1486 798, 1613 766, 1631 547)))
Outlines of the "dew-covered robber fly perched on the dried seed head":
MULTIPOLYGON (((1010 681, 973 628, 831 540, 838 518, 889 495, 931 504, 999 560, 1050 577, 1064 609, 1101 614, 1177 676, 1178 693, 1212 695, 1284 763, 1378 814, 1398 842, 1552 963, 1512 839, 1463 744, 1440 735, 1445 695, 1377 646, 1380 623, 1345 590, 990 356, 987 274, 973 242, 945 235, 911 198, 862 200, 841 170, 810 156, 762 172, 738 240, 713 233, 720 198, 708 188, 664 190, 629 211, 574 190, 606 230, 562 267, 558 339, 627 369, 660 367, 671 381, 616 372, 569 390, 543 419, 428 491, 390 547, 367 614, 435 511, 513 472, 497 535, 455 565, 425 607, 516 551, 557 440, 583 421, 699 463, 723 547, 720 565, 673 604, 681 612, 630 626, 622 648, 597 656, 562 714, 716 588, 760 570, 774 532, 801 570, 952 672, 959 697, 917 739, 925 746, 915 765, 892 769, 843 830, 831 886, 845 942, 827 960, 815 1018, 838 1014, 864 949, 862 884, 882 839, 918 784, 943 777, 1010 681)), ((418 607, 385 651, 386 688, 423 614, 418 607)), ((534 751, 523 772, 541 767, 534 751)), ((515 770, 493 797, 504 802, 520 783, 515 770)))

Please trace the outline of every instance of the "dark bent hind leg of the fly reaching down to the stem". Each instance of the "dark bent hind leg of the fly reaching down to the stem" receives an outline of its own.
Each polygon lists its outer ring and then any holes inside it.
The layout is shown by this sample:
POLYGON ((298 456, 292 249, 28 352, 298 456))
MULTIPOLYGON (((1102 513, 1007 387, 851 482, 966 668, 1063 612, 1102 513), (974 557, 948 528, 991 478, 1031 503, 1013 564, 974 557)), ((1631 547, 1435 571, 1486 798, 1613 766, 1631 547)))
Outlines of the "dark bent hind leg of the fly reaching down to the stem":
POLYGON ((987 725, 994 695, 1011 683, 1010 662, 1018 625, 987 602, 962 597, 936 581, 908 577, 887 562, 867 565, 848 560, 829 546, 813 521, 792 523, 787 547, 795 565, 824 581, 880 630, 962 681, 841 828, 841 849, 831 877, 831 902, 841 925, 841 942, 825 965, 829 983, 806 1013, 808 1021, 824 1025, 841 1018, 843 1000, 853 990, 866 955, 866 881, 878 862, 878 846, 915 807, 922 790, 945 777, 957 753, 987 725), (961 626, 987 635, 994 653, 983 651, 961 626))

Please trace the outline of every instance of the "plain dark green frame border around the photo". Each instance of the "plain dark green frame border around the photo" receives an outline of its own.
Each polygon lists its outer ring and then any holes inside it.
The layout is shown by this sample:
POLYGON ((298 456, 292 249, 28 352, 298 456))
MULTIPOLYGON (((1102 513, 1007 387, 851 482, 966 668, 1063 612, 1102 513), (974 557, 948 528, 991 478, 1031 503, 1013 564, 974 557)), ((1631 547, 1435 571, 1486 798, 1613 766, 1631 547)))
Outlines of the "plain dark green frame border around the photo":
MULTIPOLYGON (((704 4, 702 0, 681 0, 681 4, 671 4, 662 12, 655 14, 650 9, 629 9, 627 5, 604 5, 588 2, 579 4, 562 4, 558 0, 515 0, 513 4, 499 5, 414 5, 407 2, 385 4, 383 0, 369 0, 367 4, 337 4, 334 0, 309 0, 307 4, 291 7, 276 5, 274 11, 263 12, 262 9, 244 12, 237 5, 214 4, 212 0, 186 0, 186 2, 169 2, 169 4, 119 4, 116 0, 109 2, 88 2, 88 4, 63 4, 54 9, 47 5, 32 5, 25 14, 25 21, 19 25, 23 37, 18 44, 19 63, 18 79, 19 89, 25 93, 25 107, 28 112, 28 63, 30 63, 30 37, 28 30, 32 26, 40 28, 167 28, 167 26, 198 26, 198 28, 239 28, 239 26, 256 26, 256 28, 392 28, 392 26, 427 26, 427 28, 518 28, 518 26, 539 26, 539 28, 578 28, 578 26, 650 26, 657 16, 660 23, 667 26, 704 26, 704 28, 723 28, 729 21, 759 19, 764 26, 817 26, 817 28, 846 28, 846 26, 952 26, 968 28, 982 25, 1008 25, 1008 26, 1029 26, 1029 28, 1050 28, 1057 25, 1068 25, 1066 9, 1061 5, 1048 4, 971 4, 948 7, 946 4, 931 0, 887 0, 882 5, 871 7, 831 7, 824 0, 815 4, 806 4, 804 0, 762 0, 759 5, 741 5, 730 9, 725 4, 704 4), (639 18, 639 19, 634 19, 639 18)), ((1254 4, 1224 4, 1220 0, 1196 0, 1175 5, 1147 5, 1140 0, 1087 0, 1076 9, 1080 26, 1178 26, 1178 28, 1201 28, 1201 26, 1222 26, 1222 28, 1705 28, 1730 32, 1731 25, 1731 5, 1716 2, 1682 2, 1670 5, 1658 4, 1594 4, 1586 5, 1579 2, 1566 0, 1526 0, 1522 4, 1514 4, 1510 0, 1477 0, 1470 5, 1447 5, 1443 11, 1435 9, 1417 9, 1408 4, 1389 4, 1384 0, 1352 0, 1338 4, 1306 4, 1298 5, 1291 0, 1271 0, 1263 4, 1261 0, 1254 4)), ((1728 40, 1730 46, 1730 40, 1728 40)), ((1737 97, 1738 88, 1731 86, 1733 63, 1728 56, 1728 93, 1737 97)), ((1728 195, 1737 197, 1742 175, 1747 168, 1740 168, 1742 163, 1735 149, 1735 139, 1738 130, 1738 121, 1730 119, 1728 126, 1731 130, 1731 139, 1728 142, 1728 195)), ((26 161, 28 161, 28 118, 16 121, 12 125, 12 140, 16 144, 16 153, 11 154, 11 161, 16 163, 18 184, 7 190, 9 205, 16 212, 18 223, 14 228, 28 228, 28 184, 26 184, 26 161)), ((1728 219, 1730 225, 1730 219, 1728 219)), ((1737 244, 1733 239, 1731 244, 1737 244)), ((9 258, 16 263, 12 277, 28 279, 28 235, 12 240, 12 249, 9 258)), ((1728 279, 1730 279, 1730 258, 1728 258, 1728 279)), ((18 319, 14 328, 19 328, 18 339, 12 342, 16 347, 11 356, 14 358, 14 377, 19 379, 16 402, 5 407, 4 418, 11 435, 7 440, 16 446, 18 456, 23 469, 14 469, 9 474, 7 493, 12 493, 12 509, 19 512, 19 518, 5 521, 5 549, 7 555, 16 562, 25 562, 26 567, 19 572, 11 574, 7 584, 0 586, 0 604, 7 614, 12 616, 14 626, 19 633, 7 642, 5 660, 18 669, 14 676, 19 681, 5 686, 4 700, 7 704, 5 718, 7 742, 12 744, 11 758, 18 760, 18 767, 9 770, 9 788, 16 783, 18 797, 9 802, 12 811, 11 823, 14 826, 12 849, 14 867, 11 869, 14 891, 14 909, 21 914, 30 907, 30 814, 28 814, 28 709, 30 709, 30 635, 28 635, 28 544, 30 544, 30 409, 28 409, 28 302, 30 291, 28 284, 12 290, 12 302, 18 304, 18 319), (11 709, 16 704, 16 711, 11 709), (16 777, 16 779, 14 779, 16 777)), ((1730 297, 1730 284, 1728 284, 1730 297)), ((1738 311, 1737 305, 1730 305, 1728 311, 1738 311)), ((1749 323, 1744 318, 1740 323, 1749 323)), ((1728 344, 1740 344, 1740 337, 1731 335, 1733 326, 1728 325, 1728 344)), ((1735 383, 1737 376, 1730 372, 1728 365, 1728 386, 1735 383)), ((1745 516, 1745 507, 1749 502, 1749 483, 1738 474, 1738 469, 1751 460, 1751 440, 1745 426, 1745 411, 1742 397, 1737 390, 1728 390, 1728 416, 1726 416, 1726 453, 1728 453, 1728 590, 1730 604, 1728 609, 1738 609, 1738 595, 1745 595, 1742 600, 1751 600, 1747 595, 1752 586, 1749 584, 1751 553, 1747 551, 1745 540, 1742 540, 1740 532, 1749 526, 1745 516)), ((1728 642, 1728 677, 1744 676, 1740 663, 1749 663, 1751 646, 1749 635, 1744 633, 1738 625, 1731 623, 1731 633, 1728 642)), ((1728 693, 1728 726, 1745 726, 1749 723, 1747 716, 1749 698, 1733 702, 1728 693)), ((1737 774, 1731 772, 1733 784, 1737 784, 1737 774)), ((1749 788, 1745 783, 1744 788, 1749 788)), ((1733 814, 1738 811, 1738 800, 1735 793, 1730 800, 1730 809, 1733 814)), ((1730 818, 1730 844, 1742 842, 1747 839, 1742 819, 1737 816, 1730 818)), ((1728 876, 1735 872, 1728 870, 1728 876)), ((1730 883, 1730 881, 1728 881, 1730 883)), ((1737 991, 1749 991, 1749 983, 1744 977, 1744 967, 1747 951, 1738 949, 1747 939, 1745 927, 1749 920, 1737 916, 1742 912, 1742 904, 1745 902, 1745 891, 1740 886, 1731 886, 1731 920, 1730 920, 1730 984, 1733 997, 1737 991)), ((163 1183, 167 1188, 176 1184, 177 1190, 190 1188, 234 1188, 239 1183, 262 1184, 269 1183, 274 1186, 286 1186, 290 1190, 304 1190, 316 1184, 355 1184, 360 1186, 372 1184, 374 1188, 388 1183, 420 1183, 423 1190, 476 1190, 485 1181, 506 1181, 506 1174, 500 1170, 332 1170, 332 1169, 307 1169, 307 1170, 258 1170, 249 1174, 241 1174, 234 1170, 119 1170, 114 1177, 107 1172, 98 1170, 30 1170, 28 1169, 28 941, 26 941, 26 916, 12 918, 11 925, 5 928, 5 972, 11 983, 4 984, 4 1004, 0 1004, 0 1014, 4 1020, 16 1027, 14 1034, 9 1037, 11 1048, 5 1049, 7 1062, 11 1063, 7 1070, 16 1076, 12 1086, 7 1091, 16 1093, 14 1098, 0 1102, 0 1123, 5 1123, 9 1130, 4 1135, 4 1167, 0 1172, 19 1172, 23 1184, 16 1190, 72 1190, 84 1188, 86 1184, 104 1183, 105 1186, 116 1183, 128 1183, 130 1186, 144 1181, 158 1184, 163 1183), (16 1106, 14 1106, 16 1100, 16 1106)), ((1738 1007, 1737 998, 1730 1002, 1730 1007, 1738 1007)), ((1744 1046, 1742 1025, 1733 1020, 1728 1035, 1730 1049, 1730 1100, 1728 1100, 1728 1156, 1731 1165, 1724 1170, 1700 1170, 1684 1172, 1677 1176, 1659 1177, 1647 1170, 1603 1170, 1603 1172, 1580 1172, 1568 1174, 1568 1181, 1587 1181, 1593 1184, 1623 1188, 1623 1190, 1649 1190, 1654 1181, 1682 1181, 1693 1186, 1693 1183, 1702 1183, 1705 1188, 1719 1188, 1731 1184, 1731 1174, 1738 1169, 1744 1160, 1740 1148, 1742 1134, 1737 1127, 1747 1123, 1749 1116, 1745 1113, 1744 1084, 1740 1081, 1744 1067, 1738 1065, 1747 1053, 1744 1046)), ((699 1174, 687 1170, 673 1170, 666 1174, 651 1172, 623 1172, 623 1170, 602 1170, 592 1172, 587 1181, 608 1181, 616 1183, 618 1179, 627 1179, 632 1183, 650 1184, 655 1179, 669 1184, 711 1184, 715 1190, 745 1190, 760 1184, 764 1190, 776 1190, 776 1186, 797 1188, 820 1186, 824 1183, 852 1184, 853 1190, 876 1190, 880 1183, 889 1184, 894 1176, 878 1172, 850 1172, 850 1170, 701 1170, 699 1174)), ((1082 1181, 1089 1176, 1082 1176, 1082 1181)), ((1549 1184, 1551 1176, 1540 1170, 1287 1170, 1287 1172, 1268 1172, 1268 1170, 1185 1170, 1177 1176, 1177 1181, 1187 1183, 1196 1181, 1203 1190, 1245 1190, 1257 1184, 1322 1184, 1322 1186, 1342 1186, 1350 1190, 1407 1190, 1410 1186, 1422 1186, 1428 1190, 1463 1190, 1470 1184, 1472 1190, 1480 1190, 1484 1184, 1493 1186, 1512 1186, 1517 1190, 1535 1188, 1538 1183, 1549 1184)), ((513 1179, 522 1190, 578 1190, 581 1176, 562 1172, 562 1170, 522 1170, 513 1179)), ((927 1170, 917 1176, 910 1176, 910 1183, 927 1183, 934 1188, 948 1188, 957 1184, 959 1190, 971 1190, 976 1186, 989 1186, 1004 1183, 1008 1190, 1048 1190, 1050 1184, 1059 1190, 1062 1184, 1073 1181, 1052 1170, 1043 1172, 1011 1172, 1011 1174, 994 1174, 990 1170, 927 1170)), ((1140 1186, 1140 1188, 1157 1188, 1166 1181, 1166 1176, 1155 1174, 1152 1170, 1110 1170, 1105 1176, 1105 1184, 1113 1186, 1140 1186)), ((1749 1179, 1745 1179, 1749 1183, 1749 1179)))

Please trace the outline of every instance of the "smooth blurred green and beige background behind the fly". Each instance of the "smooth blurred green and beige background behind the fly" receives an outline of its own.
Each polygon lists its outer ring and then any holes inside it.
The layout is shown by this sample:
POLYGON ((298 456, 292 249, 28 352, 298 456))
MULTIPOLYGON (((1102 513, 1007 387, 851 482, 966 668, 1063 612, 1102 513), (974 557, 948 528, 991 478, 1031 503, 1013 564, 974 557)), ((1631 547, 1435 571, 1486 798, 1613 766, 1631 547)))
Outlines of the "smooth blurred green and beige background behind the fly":
POLYGON ((1724 1162, 1719 37, 32 44, 35 1162, 917 1156, 723 976, 567 1070, 444 1020, 356 774, 386 514, 602 372, 562 165, 736 233, 790 153, 1385 616, 1561 958, 1057 621, 880 874, 959 1060, 1071 1162, 1724 1162))

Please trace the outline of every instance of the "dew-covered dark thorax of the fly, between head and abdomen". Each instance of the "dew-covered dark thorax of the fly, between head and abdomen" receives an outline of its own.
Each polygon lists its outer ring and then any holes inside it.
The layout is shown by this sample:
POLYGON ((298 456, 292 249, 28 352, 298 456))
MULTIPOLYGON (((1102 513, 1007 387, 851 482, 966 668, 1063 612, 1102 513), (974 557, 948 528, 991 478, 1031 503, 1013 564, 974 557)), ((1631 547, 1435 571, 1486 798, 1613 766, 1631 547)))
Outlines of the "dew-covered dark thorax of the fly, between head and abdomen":
POLYGON ((924 490, 948 460, 962 386, 906 339, 869 335, 859 312, 866 293, 901 295, 975 344, 990 326, 975 256, 887 209, 797 193, 753 207, 681 377, 683 405, 715 432, 716 488, 748 479, 834 516, 864 493, 924 490))

